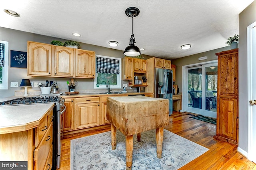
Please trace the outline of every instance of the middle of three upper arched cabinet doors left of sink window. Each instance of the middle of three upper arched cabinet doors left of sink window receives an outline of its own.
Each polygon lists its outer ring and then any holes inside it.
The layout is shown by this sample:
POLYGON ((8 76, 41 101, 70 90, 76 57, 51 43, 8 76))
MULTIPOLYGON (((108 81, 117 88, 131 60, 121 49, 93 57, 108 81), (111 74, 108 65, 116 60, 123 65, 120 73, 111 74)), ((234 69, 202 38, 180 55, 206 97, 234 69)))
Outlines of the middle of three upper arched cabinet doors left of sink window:
POLYGON ((54 76, 73 77, 73 49, 54 46, 54 76))

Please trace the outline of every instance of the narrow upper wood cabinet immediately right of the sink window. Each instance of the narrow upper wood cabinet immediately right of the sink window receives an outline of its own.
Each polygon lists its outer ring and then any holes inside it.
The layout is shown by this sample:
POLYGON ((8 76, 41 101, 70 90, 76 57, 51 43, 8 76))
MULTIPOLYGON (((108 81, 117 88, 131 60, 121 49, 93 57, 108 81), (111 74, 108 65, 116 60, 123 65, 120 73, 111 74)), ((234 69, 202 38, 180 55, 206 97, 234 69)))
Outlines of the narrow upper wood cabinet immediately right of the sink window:
POLYGON ((133 79, 133 58, 122 58, 122 80, 133 79))

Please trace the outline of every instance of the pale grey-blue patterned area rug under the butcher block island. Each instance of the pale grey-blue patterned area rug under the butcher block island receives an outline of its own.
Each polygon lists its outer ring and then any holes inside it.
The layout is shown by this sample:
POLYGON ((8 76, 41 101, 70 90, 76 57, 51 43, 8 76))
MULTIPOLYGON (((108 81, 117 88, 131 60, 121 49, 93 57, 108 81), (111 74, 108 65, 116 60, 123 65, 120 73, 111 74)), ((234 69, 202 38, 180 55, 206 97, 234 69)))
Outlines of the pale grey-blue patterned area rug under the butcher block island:
MULTIPOLYGON (((134 135, 132 170, 177 170, 208 149, 164 129, 162 158, 156 157, 156 130, 134 135)), ((112 150, 111 132, 71 140, 71 170, 125 170, 125 136, 117 130, 116 150, 112 150)))

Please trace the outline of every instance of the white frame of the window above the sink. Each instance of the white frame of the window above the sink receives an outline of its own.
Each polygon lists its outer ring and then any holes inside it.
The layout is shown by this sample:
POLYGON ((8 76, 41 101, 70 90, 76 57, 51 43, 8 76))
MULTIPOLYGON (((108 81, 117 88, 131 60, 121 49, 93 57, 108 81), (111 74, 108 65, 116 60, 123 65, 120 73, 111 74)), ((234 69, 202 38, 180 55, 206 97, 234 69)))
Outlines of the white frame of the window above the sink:
MULTIPOLYGON (((114 88, 114 89, 116 89, 116 88, 121 88, 121 65, 122 65, 122 63, 121 63, 121 58, 116 58, 116 57, 109 57, 109 56, 101 56, 101 55, 97 55, 96 54, 96 57, 102 57, 102 58, 111 58, 111 59, 115 59, 115 60, 119 60, 119 74, 117 74, 117 84, 116 85, 113 85, 113 84, 110 84, 110 88, 114 88)), ((97 67, 96 66, 96 57, 95 57, 95 68, 97 67)), ((97 87, 97 78, 98 78, 98 73, 97 73, 97 71, 96 71, 96 76, 95 76, 95 78, 94 78, 94 89, 107 89, 107 87, 106 87, 106 84, 100 84, 100 86, 99 87, 97 87)))

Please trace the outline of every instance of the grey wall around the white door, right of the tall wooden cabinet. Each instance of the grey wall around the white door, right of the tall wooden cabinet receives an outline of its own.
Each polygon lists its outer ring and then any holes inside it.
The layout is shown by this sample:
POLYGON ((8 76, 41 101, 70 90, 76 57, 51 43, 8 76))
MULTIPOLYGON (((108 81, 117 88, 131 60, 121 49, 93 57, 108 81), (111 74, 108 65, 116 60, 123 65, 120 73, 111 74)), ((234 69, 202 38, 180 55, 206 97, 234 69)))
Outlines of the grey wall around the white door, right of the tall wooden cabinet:
POLYGON ((256 21, 256 1, 252 2, 239 14, 239 148, 248 152, 247 148, 247 26, 256 21))

